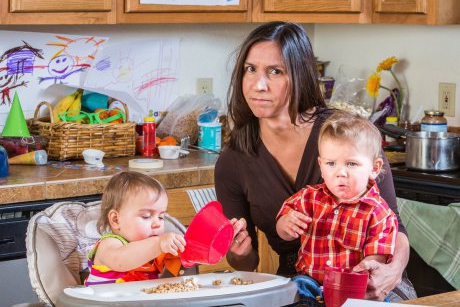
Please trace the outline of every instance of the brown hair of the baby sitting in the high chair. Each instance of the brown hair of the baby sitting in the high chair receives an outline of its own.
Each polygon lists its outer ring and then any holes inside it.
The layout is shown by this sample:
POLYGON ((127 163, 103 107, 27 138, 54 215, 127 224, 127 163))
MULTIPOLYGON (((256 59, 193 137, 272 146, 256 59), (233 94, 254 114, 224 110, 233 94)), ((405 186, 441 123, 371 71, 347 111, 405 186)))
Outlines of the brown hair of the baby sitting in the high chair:
POLYGON ((109 228, 110 210, 118 211, 122 206, 129 205, 129 198, 142 190, 155 192, 157 194, 155 201, 162 193, 166 193, 166 189, 158 180, 145 174, 128 171, 114 175, 102 194, 101 216, 97 222, 99 232, 103 233, 109 228))

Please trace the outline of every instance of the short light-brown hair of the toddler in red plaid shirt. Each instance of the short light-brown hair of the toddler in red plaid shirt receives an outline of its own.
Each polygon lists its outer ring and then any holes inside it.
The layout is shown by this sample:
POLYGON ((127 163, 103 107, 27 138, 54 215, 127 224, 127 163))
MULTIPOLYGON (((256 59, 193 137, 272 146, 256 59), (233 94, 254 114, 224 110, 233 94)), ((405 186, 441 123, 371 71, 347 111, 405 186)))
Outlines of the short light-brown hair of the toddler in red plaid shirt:
POLYGON ((381 157, 380 131, 368 119, 356 114, 335 111, 321 127, 318 144, 324 139, 348 142, 359 150, 366 151, 374 160, 381 157))

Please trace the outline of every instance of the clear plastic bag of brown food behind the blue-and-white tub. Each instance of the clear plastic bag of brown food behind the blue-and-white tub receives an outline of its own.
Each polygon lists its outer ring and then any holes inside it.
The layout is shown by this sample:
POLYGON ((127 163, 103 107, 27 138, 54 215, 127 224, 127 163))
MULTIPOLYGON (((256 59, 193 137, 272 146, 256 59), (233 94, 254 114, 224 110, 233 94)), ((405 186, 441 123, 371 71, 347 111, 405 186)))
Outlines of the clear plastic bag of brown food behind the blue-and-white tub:
POLYGON ((219 109, 220 105, 221 101, 212 94, 178 97, 158 124, 157 136, 172 136, 178 141, 189 136, 190 144, 195 144, 198 139, 198 117, 206 107, 219 109))

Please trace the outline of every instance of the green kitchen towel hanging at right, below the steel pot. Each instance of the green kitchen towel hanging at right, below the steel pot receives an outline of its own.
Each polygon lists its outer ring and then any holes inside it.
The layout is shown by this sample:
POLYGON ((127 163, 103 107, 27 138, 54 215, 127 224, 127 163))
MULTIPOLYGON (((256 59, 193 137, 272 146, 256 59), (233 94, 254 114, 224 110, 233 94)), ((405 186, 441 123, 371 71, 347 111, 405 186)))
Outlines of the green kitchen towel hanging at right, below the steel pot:
POLYGON ((460 289, 460 203, 438 206, 398 198, 410 245, 453 287, 460 289))

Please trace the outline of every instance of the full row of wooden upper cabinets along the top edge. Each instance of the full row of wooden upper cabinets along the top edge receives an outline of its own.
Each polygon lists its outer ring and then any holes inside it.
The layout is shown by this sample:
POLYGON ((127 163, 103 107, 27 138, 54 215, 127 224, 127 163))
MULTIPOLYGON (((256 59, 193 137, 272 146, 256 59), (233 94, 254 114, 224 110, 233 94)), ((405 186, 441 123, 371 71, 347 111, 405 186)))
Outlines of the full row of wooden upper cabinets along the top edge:
POLYGON ((3 0, 0 24, 242 23, 460 24, 458 0, 240 0, 237 6, 140 0, 3 0))

